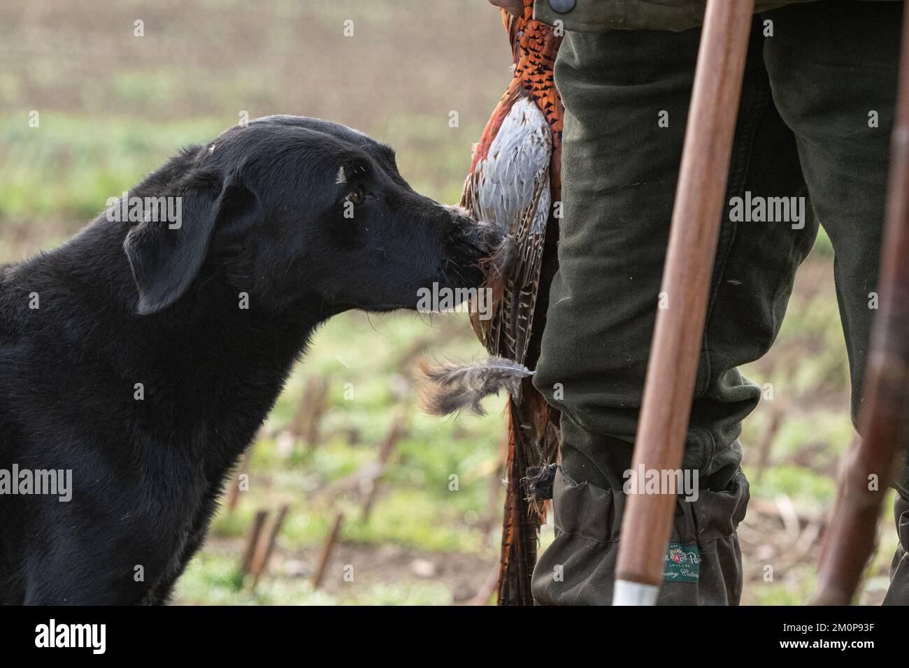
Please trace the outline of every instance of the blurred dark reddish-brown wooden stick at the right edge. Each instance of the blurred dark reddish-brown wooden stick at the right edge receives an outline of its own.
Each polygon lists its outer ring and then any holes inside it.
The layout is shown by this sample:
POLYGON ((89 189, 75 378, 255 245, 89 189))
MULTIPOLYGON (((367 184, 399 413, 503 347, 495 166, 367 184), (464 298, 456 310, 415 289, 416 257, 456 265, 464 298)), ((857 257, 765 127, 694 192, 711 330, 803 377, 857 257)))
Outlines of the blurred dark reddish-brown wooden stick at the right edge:
POLYGON ((821 555, 818 605, 848 605, 874 552, 877 523, 909 414, 909 5, 890 161, 889 202, 881 244, 880 309, 859 417, 862 442, 845 456, 833 521, 821 555), (872 476, 875 476, 872 478, 872 476), (876 485, 869 489, 870 482, 876 485))

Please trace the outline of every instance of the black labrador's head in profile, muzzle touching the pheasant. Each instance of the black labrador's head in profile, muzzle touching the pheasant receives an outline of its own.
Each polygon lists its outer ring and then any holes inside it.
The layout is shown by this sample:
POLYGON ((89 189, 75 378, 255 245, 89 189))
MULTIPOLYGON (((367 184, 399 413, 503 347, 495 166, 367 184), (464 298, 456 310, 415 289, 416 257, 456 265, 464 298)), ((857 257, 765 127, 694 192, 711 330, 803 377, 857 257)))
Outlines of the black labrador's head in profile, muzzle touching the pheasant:
POLYGON ((298 116, 230 128, 130 196, 179 198, 178 220, 146 216, 126 235, 139 314, 162 311, 218 273, 273 308, 415 308, 433 284, 481 284, 480 261, 500 241, 415 193, 387 146, 298 116))

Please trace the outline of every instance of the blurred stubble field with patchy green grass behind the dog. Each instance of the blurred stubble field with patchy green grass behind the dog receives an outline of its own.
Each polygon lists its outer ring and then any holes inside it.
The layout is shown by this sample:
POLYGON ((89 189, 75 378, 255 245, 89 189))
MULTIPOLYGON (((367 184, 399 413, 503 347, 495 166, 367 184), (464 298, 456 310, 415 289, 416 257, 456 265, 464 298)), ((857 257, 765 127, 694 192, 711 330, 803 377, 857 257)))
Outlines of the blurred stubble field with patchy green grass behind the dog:
MULTIPOLYGON (((4 0, 0 263, 60 243, 179 146, 244 112, 354 126, 395 146, 416 190, 454 203, 509 65, 486 0, 4 0), (137 20, 145 36, 134 36, 137 20)), ((837 459, 853 438, 832 259, 822 234, 774 350, 744 369, 774 393, 744 427, 744 603, 807 601, 837 459)), ((320 330, 228 484, 244 489, 215 517, 176 603, 486 600, 504 494, 502 402, 489 400, 482 418, 420 414, 420 354, 483 351, 463 314, 352 313, 320 330), (254 563, 283 506, 254 587, 241 563, 255 515, 268 513, 254 563)), ((895 537, 889 517, 882 525, 863 603, 886 587, 895 537)), ((543 543, 551 536, 546 527, 543 543)))

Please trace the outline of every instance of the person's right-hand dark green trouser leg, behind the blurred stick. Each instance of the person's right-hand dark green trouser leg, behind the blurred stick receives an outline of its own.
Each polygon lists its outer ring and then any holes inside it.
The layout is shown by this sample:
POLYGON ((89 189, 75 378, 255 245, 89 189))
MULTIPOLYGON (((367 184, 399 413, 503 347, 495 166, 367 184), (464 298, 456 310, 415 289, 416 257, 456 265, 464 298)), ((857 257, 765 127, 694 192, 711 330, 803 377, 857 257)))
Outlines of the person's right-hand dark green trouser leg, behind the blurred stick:
MULTIPOLYGON (((814 214, 836 254, 836 296, 849 353, 854 421, 863 401, 876 313, 903 5, 811 3, 765 15, 774 21, 774 38, 764 44, 774 99, 794 131, 814 214)), ((909 498, 906 474, 896 484, 909 498)), ((907 510, 897 497, 903 544, 894 560, 887 603, 909 603, 907 510)))

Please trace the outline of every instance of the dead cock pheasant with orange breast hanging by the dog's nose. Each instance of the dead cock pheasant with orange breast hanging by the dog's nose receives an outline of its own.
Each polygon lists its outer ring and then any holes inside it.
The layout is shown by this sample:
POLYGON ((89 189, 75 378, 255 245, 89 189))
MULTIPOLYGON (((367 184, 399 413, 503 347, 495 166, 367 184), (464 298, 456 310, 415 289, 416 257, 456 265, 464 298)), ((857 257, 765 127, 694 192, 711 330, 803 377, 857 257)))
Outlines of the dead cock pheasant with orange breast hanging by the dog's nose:
MULTIPOLYGON (((486 350, 533 369, 539 357, 549 284, 556 268, 562 147, 562 100, 553 65, 562 41, 533 19, 533 0, 490 0, 503 6, 514 57, 514 78, 474 149, 461 205, 477 220, 510 234, 503 276, 493 276, 493 315, 471 324, 486 350)), ((509 394, 507 491, 504 509, 500 605, 532 605, 543 499, 549 498, 558 449, 559 415, 529 377, 509 394)))

